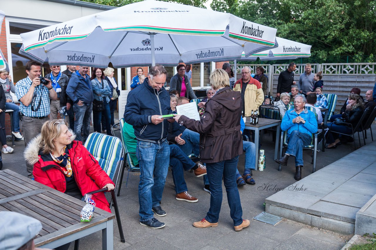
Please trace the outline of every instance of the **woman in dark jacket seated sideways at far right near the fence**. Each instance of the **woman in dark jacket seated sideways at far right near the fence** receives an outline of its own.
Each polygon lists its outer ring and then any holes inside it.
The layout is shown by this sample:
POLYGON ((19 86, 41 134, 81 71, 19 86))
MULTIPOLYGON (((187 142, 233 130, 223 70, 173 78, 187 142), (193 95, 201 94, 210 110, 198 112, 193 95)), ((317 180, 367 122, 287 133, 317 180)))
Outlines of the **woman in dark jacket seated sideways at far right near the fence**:
MULTIPOLYGON (((364 102, 361 99, 361 96, 358 94, 350 94, 348 104, 346 105, 346 111, 342 114, 343 121, 345 123, 351 123, 353 127, 356 126, 359 119, 363 115, 364 102)), ((327 146, 325 148, 337 148, 337 144, 340 142, 338 133, 331 132, 340 132, 344 134, 351 134, 351 127, 347 124, 337 125, 335 121, 328 123, 329 133, 326 139, 327 146)))

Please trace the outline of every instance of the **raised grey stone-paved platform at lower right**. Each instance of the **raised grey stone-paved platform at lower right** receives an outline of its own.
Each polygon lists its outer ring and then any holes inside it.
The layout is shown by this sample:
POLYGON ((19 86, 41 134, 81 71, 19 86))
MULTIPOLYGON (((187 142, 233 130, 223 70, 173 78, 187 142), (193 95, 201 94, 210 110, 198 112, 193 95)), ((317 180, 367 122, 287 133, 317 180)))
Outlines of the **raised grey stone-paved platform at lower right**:
MULTIPOLYGON (((376 193, 375 152, 376 141, 277 192, 265 199, 267 212, 353 233, 357 212, 376 193), (304 189, 293 192, 294 186, 304 189)), ((370 211, 376 216, 376 208, 370 211)))

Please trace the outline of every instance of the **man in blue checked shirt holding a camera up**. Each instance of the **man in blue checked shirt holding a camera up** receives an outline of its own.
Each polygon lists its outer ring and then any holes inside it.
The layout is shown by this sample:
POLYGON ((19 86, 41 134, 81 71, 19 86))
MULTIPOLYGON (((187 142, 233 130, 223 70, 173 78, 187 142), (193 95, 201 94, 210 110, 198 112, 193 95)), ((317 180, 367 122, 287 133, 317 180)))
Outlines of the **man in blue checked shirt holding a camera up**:
MULTIPOLYGON (((28 61, 26 73, 27 77, 16 84, 25 146, 41 132, 43 123, 49 120, 50 99, 58 98, 51 81, 40 77, 42 64, 33 60, 28 61)), ((27 177, 33 179, 33 165, 26 163, 26 169, 27 177)))

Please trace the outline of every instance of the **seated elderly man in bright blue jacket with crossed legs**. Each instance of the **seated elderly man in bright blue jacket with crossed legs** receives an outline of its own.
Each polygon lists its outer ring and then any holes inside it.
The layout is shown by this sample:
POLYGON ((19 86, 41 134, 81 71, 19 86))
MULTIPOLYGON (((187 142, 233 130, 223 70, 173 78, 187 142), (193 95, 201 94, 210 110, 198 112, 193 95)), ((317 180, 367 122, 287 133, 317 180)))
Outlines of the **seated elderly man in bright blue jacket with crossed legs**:
POLYGON ((302 178, 303 167, 303 145, 309 145, 312 141, 312 133, 317 132, 317 121, 315 114, 305 108, 306 99, 304 96, 296 96, 295 108, 288 110, 282 119, 281 130, 287 130, 288 146, 285 155, 275 160, 277 163, 286 166, 288 157, 295 156, 295 180, 302 178))

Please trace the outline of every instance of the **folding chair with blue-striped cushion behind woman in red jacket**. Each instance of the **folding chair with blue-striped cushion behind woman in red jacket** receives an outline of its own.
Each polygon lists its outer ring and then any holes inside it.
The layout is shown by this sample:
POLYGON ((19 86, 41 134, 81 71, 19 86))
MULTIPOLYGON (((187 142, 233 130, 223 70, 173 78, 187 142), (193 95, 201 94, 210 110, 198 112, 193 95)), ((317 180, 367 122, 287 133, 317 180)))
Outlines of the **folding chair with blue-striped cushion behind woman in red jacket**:
MULTIPOLYGON (((85 142, 85 148, 94 156, 94 158, 98 161, 99 166, 108 174, 111 178, 112 182, 116 184, 119 177, 120 167, 123 165, 124 160, 124 151, 121 144, 120 139, 104 135, 102 133, 91 133, 88 139, 85 142)), ((98 189, 92 191, 88 194, 94 194, 99 192, 105 192, 108 190, 105 189, 98 189)), ((123 227, 121 226, 119 208, 116 201, 115 190, 111 190, 111 192, 105 192, 105 197, 110 205, 110 209, 114 206, 115 216, 119 228, 120 234, 120 241, 125 242, 124 234, 123 234, 123 227)), ((79 247, 79 240, 76 240, 74 243, 74 249, 78 249, 79 247)))

